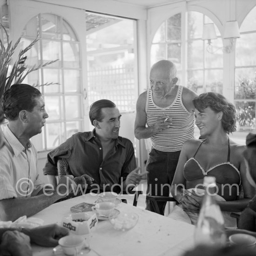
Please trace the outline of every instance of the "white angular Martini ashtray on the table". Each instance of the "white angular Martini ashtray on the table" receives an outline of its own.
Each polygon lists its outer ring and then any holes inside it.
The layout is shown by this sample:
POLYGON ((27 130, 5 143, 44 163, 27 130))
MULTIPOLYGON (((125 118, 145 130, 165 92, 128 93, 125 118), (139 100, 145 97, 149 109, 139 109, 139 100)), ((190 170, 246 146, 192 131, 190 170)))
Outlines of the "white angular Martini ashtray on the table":
POLYGON ((98 224, 98 218, 94 212, 74 213, 62 218, 61 226, 69 229, 76 235, 90 233, 98 224))

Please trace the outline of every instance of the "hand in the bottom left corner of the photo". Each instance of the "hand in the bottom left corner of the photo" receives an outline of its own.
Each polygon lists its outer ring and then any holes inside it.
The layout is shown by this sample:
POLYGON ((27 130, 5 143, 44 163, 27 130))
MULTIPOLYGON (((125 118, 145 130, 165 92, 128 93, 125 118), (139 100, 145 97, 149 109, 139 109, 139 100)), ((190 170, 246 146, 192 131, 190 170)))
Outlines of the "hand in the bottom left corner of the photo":
POLYGON ((0 244, 0 255, 32 256, 29 236, 18 230, 6 231, 0 244))

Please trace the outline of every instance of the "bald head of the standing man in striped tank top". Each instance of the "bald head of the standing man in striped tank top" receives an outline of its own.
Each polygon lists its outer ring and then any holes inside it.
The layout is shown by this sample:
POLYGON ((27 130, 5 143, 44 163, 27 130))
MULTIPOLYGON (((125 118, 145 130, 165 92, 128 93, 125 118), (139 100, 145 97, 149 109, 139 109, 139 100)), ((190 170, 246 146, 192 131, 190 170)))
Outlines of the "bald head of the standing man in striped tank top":
POLYGON ((161 60, 156 62, 150 70, 149 81, 153 95, 164 98, 175 87, 178 78, 177 68, 172 61, 161 60))

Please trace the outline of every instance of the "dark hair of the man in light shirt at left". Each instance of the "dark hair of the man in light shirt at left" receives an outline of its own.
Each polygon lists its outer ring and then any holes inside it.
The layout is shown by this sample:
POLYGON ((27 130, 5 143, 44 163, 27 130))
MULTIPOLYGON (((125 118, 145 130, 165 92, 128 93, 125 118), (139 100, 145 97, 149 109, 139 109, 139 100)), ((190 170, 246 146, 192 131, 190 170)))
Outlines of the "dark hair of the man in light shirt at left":
POLYGON ((41 93, 37 88, 28 84, 14 84, 3 96, 3 111, 8 120, 16 120, 21 110, 33 111, 35 99, 41 93))

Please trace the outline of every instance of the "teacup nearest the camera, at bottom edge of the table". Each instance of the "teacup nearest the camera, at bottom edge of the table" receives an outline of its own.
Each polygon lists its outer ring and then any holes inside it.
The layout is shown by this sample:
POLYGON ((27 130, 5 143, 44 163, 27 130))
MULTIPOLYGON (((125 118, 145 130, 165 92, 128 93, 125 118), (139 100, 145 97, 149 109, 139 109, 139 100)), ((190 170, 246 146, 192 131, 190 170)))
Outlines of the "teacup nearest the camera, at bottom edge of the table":
POLYGON ((69 235, 62 237, 59 240, 59 245, 66 255, 76 256, 85 245, 85 240, 81 236, 69 235))

